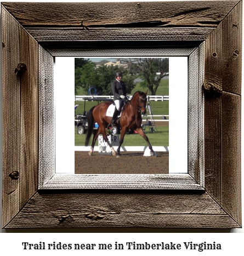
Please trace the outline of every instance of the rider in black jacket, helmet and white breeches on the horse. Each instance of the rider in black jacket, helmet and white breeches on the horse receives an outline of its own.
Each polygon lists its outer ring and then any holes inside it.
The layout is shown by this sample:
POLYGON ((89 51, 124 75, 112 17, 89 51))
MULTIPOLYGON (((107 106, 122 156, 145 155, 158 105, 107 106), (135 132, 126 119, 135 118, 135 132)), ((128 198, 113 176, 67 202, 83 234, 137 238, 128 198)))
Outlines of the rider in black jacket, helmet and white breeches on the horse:
POLYGON ((112 117, 111 124, 115 124, 116 118, 118 113, 120 113, 121 102, 127 96, 126 86, 124 82, 121 81, 122 73, 120 71, 115 73, 115 81, 112 83, 112 92, 114 95, 114 102, 115 102, 115 112, 112 117))

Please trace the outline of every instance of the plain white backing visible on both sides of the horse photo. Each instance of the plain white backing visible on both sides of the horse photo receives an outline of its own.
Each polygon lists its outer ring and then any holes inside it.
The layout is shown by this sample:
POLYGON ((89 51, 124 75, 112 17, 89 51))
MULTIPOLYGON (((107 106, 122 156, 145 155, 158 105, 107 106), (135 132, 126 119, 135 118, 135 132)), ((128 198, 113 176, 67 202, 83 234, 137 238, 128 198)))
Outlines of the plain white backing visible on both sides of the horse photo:
MULTIPOLYGON (((90 60, 92 61, 92 58, 90 60)), ((73 108, 75 106, 73 102, 73 85, 75 84, 74 62, 74 57, 55 58, 56 173, 75 173, 75 135, 73 131, 73 108), (67 67, 69 68, 67 69, 67 67), (60 126, 60 124, 62 125, 60 126)), ((171 74, 169 79, 169 150, 171 152, 169 154, 169 172, 187 173, 188 57, 169 57, 169 70, 171 74), (176 158, 178 161, 174 161, 176 158)), ((84 102, 81 101, 80 104, 84 104, 84 102)), ((139 139, 143 140, 143 138, 139 139)))

